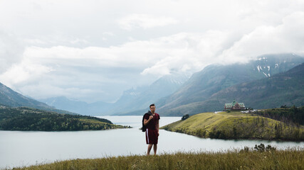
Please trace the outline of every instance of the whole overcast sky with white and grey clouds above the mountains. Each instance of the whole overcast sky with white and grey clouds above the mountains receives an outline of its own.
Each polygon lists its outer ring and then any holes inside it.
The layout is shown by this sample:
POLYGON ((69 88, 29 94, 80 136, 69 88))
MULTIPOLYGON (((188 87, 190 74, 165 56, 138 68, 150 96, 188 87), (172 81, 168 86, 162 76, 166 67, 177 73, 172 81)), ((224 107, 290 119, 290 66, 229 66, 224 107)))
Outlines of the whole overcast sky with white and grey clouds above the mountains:
POLYGON ((0 0, 0 82, 115 102, 164 75, 304 54, 304 1, 0 0))

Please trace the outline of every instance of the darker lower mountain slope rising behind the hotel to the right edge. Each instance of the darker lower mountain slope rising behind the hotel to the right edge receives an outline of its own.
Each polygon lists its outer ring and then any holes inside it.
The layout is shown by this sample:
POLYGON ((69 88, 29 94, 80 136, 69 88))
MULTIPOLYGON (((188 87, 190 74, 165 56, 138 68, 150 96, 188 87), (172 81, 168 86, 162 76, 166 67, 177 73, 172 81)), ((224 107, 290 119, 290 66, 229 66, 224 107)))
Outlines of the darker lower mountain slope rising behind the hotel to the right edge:
POLYGON ((213 94, 205 101, 172 108, 167 114, 193 115, 206 111, 222 111, 224 103, 231 103, 234 99, 244 103, 246 107, 256 109, 279 108, 284 105, 303 106, 303 86, 304 63, 273 77, 236 84, 213 94))

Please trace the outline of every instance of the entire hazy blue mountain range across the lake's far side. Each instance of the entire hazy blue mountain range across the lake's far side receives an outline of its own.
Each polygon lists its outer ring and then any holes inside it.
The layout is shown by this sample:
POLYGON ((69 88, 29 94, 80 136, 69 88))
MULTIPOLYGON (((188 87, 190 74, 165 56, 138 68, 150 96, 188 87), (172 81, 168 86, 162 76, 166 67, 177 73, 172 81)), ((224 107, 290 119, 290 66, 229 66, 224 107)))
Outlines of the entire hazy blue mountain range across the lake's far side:
POLYGON ((252 108, 299 106, 303 105, 303 62, 298 55, 280 54, 263 55, 246 64, 212 64, 192 77, 171 74, 150 86, 124 91, 115 103, 85 103, 64 96, 36 101, 0 83, 0 105, 83 115, 142 115, 150 103, 161 115, 193 115, 221 111, 224 103, 234 99, 252 108))

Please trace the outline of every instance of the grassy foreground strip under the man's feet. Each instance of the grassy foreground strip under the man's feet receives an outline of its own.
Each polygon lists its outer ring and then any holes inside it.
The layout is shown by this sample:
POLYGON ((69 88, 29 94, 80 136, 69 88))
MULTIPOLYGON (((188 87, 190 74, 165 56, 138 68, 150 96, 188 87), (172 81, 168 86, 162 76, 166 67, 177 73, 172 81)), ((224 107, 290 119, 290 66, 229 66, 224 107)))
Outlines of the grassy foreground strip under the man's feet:
POLYGON ((14 169, 304 169, 304 149, 268 152, 249 149, 249 151, 74 159, 14 169))

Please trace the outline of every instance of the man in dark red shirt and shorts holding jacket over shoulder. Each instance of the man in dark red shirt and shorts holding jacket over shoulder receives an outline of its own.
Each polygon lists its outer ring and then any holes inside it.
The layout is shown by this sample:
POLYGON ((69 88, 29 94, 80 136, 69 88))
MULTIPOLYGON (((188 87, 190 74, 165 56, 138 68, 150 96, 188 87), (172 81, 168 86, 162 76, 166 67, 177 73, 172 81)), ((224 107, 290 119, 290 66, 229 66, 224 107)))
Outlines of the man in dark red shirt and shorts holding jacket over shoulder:
POLYGON ((150 105, 150 111, 144 115, 144 125, 146 127, 146 142, 148 145, 147 155, 153 146, 154 155, 157 151, 157 141, 159 136, 159 114, 155 113, 155 105, 150 105))

